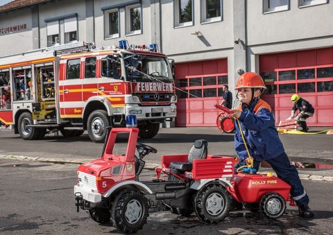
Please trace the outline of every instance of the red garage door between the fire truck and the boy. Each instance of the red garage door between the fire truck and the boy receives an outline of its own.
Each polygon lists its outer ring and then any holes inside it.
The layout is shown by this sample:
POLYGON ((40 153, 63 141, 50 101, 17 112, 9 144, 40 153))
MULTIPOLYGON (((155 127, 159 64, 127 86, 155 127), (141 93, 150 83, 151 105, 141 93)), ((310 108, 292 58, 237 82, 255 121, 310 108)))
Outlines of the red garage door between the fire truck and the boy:
POLYGON ((214 126, 222 85, 228 84, 227 59, 176 64, 177 126, 214 126))

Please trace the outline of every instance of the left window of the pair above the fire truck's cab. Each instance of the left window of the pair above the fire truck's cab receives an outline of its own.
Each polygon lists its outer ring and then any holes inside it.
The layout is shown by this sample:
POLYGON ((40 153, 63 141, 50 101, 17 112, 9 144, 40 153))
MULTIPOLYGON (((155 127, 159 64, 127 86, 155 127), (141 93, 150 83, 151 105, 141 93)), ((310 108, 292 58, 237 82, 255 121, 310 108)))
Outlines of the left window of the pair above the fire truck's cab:
POLYGON ((119 37, 119 9, 104 12, 105 38, 119 37))

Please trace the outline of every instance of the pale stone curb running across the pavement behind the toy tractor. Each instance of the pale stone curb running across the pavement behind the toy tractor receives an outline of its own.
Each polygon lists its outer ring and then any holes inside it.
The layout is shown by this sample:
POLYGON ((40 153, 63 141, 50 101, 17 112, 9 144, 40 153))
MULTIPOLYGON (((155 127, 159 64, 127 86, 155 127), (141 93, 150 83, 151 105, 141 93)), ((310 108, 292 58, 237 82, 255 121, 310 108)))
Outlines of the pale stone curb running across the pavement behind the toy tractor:
MULTIPOLYGON (((0 155, 0 159, 15 159, 19 161, 31 161, 31 162, 49 162, 55 164, 84 164, 87 161, 82 161, 79 159, 49 159, 44 157, 28 157, 28 156, 17 156, 17 155, 0 155)), ((154 171, 154 169, 160 165, 157 164, 146 164, 145 169, 154 171)), ((261 175, 266 175, 269 171, 259 172, 261 175)), ((275 173, 273 175, 276 176, 275 173)), ((323 176, 323 175, 306 175, 306 174, 298 174, 300 176, 300 180, 312 180, 312 181, 330 181, 333 182, 333 176, 323 176)))

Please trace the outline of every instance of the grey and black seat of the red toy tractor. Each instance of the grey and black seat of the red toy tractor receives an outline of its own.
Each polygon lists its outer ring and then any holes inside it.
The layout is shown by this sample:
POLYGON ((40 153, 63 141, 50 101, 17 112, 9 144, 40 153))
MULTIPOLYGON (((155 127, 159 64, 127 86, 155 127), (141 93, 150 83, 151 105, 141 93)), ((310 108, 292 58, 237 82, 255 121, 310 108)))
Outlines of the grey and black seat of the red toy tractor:
POLYGON ((205 159, 207 157, 207 145, 208 143, 205 139, 196 140, 191 150, 189 150, 187 162, 171 162, 169 168, 180 172, 192 171, 194 159, 205 159))

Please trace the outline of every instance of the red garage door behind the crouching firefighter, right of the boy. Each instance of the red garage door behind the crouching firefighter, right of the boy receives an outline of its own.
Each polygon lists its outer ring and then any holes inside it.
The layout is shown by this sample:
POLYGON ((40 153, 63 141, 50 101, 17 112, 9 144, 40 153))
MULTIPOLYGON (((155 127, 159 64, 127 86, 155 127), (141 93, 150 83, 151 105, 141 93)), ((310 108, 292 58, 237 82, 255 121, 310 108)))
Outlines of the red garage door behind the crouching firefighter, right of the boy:
POLYGON ((292 94, 315 109, 310 126, 333 126, 333 47, 260 55, 260 75, 268 89, 262 98, 275 112, 275 121, 290 116, 292 94))

